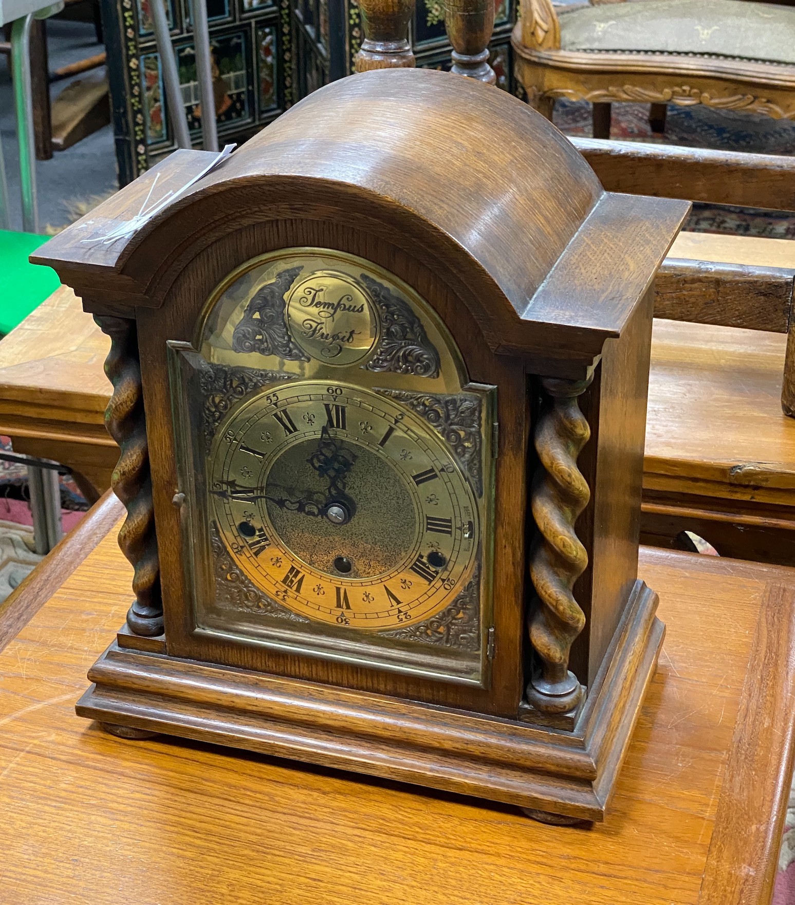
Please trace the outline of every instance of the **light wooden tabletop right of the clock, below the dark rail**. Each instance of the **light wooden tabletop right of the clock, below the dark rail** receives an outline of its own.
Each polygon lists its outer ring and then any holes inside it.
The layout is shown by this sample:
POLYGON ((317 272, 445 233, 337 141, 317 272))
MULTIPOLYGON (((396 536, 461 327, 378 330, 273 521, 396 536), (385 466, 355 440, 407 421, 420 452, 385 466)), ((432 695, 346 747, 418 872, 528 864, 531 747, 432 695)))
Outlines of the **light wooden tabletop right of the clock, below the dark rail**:
POLYGON ((792 505, 786 343, 778 333, 655 320, 644 490, 792 505))

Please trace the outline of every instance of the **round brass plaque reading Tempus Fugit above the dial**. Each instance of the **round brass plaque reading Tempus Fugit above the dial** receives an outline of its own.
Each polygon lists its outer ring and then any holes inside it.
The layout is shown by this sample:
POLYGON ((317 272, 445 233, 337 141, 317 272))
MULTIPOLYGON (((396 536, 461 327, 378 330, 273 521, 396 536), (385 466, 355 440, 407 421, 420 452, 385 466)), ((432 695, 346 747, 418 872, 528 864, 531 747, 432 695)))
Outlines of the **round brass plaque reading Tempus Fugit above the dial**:
POLYGON ((367 357, 378 338, 369 293, 340 271, 314 271, 292 287, 287 327, 307 355, 338 367, 367 357))

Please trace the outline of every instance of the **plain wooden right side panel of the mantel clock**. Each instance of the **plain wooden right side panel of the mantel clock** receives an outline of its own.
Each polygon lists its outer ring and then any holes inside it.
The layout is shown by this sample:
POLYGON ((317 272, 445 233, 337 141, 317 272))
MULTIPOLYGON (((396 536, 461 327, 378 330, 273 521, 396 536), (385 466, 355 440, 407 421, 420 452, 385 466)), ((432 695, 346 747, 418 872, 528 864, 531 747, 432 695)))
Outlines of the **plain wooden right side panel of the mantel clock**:
POLYGON ((624 335, 605 343, 600 366, 588 674, 578 673, 589 685, 637 578, 653 302, 650 287, 624 335))

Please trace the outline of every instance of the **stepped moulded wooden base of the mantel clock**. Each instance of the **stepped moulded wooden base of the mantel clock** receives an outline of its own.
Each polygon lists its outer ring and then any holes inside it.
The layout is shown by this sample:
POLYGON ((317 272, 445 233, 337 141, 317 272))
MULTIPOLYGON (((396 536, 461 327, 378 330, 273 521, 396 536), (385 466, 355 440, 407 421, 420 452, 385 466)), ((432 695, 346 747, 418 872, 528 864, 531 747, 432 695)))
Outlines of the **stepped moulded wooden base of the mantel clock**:
POLYGON ((573 732, 246 672, 113 643, 81 717, 604 819, 665 626, 637 582, 573 732))

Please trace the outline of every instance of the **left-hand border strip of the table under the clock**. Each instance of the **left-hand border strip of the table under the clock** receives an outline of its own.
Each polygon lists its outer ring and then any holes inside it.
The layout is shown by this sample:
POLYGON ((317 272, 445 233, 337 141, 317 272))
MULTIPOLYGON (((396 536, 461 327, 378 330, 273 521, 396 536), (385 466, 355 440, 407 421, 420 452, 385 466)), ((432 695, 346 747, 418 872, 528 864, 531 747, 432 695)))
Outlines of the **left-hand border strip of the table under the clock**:
POLYGON ((62 538, 22 584, 0 603, 0 651, 14 640, 91 550, 108 535, 124 511, 113 491, 106 491, 80 524, 62 538))

